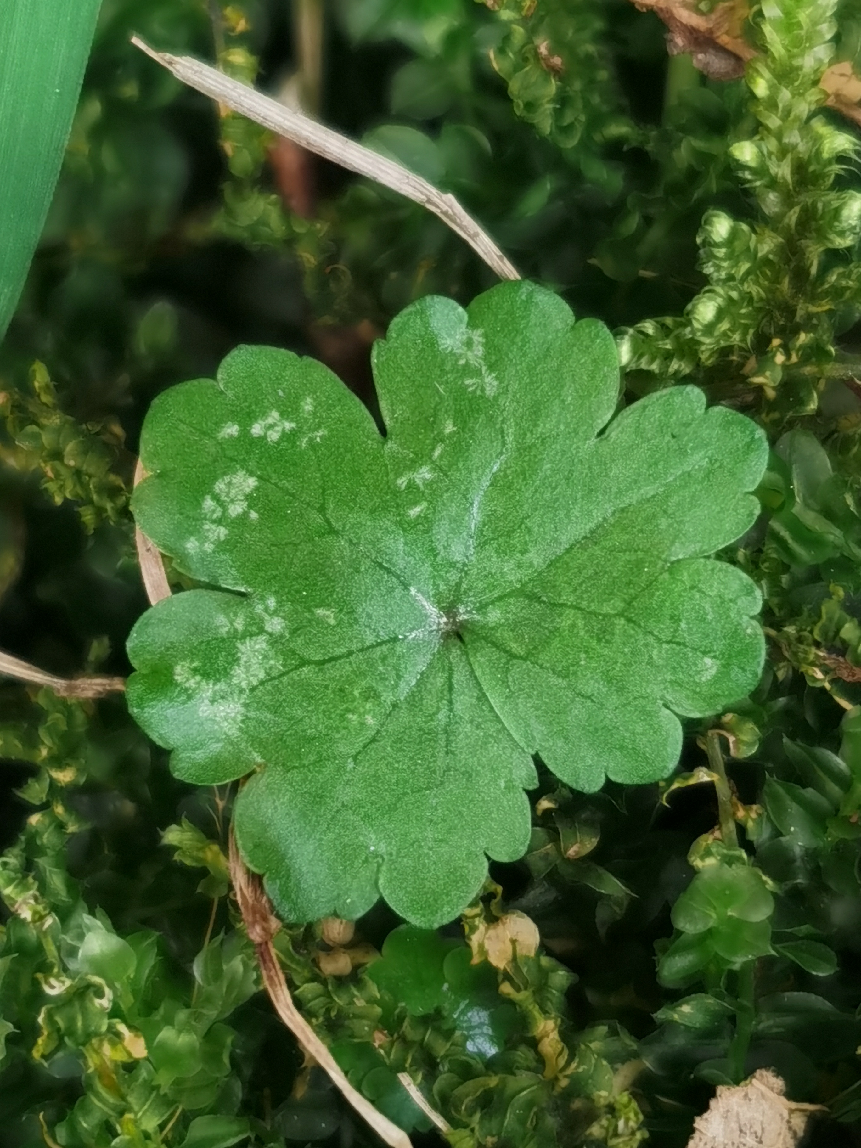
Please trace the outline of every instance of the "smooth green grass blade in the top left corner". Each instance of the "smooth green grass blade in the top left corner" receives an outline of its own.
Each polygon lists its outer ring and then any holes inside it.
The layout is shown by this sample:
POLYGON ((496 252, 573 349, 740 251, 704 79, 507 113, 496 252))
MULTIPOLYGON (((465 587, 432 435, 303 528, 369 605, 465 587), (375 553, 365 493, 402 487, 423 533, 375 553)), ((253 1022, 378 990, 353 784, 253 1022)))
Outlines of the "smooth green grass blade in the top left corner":
POLYGON ((60 172, 101 0, 6 0, 0 16, 0 339, 60 172))

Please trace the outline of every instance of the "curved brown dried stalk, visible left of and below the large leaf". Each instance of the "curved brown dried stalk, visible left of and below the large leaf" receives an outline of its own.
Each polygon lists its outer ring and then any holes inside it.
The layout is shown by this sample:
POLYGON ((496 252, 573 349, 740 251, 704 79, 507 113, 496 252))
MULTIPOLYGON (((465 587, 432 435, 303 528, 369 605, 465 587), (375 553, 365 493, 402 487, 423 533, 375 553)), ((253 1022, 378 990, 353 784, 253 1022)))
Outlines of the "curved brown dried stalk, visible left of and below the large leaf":
MULTIPOLYGON (((140 459, 138 459, 138 465, 134 468, 134 484, 137 486, 145 478, 146 471, 141 466, 140 459)), ((135 527, 134 534, 144 587, 150 604, 155 605, 163 598, 170 597, 171 592, 168 584, 168 576, 164 573, 164 563, 156 546, 153 545, 140 529, 135 527)), ((348 1103, 352 1106, 390 1148, 412 1148, 406 1133, 398 1128, 396 1124, 393 1124, 382 1112, 379 1112, 362 1093, 352 1087, 339 1068, 332 1053, 293 1003, 293 998, 287 988, 287 982, 285 980, 281 965, 278 963, 278 956, 272 945, 272 938, 281 928, 281 923, 272 913, 272 906, 263 891, 259 877, 247 868, 240 856, 232 827, 230 831, 230 870, 233 891, 236 894, 239 910, 242 914, 242 922, 254 944, 263 984, 278 1016, 290 1030, 301 1047, 328 1075, 348 1103)))

